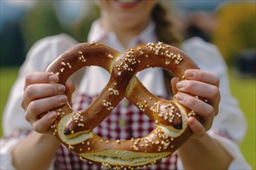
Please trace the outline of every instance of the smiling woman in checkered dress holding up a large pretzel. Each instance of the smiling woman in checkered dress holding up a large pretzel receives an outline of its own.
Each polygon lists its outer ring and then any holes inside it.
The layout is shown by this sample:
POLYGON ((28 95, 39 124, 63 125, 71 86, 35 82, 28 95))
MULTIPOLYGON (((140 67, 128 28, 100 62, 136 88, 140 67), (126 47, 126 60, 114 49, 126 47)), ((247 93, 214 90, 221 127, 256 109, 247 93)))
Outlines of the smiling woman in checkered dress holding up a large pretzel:
MULTIPOLYGON (((172 46, 179 46, 179 40, 175 36, 175 32, 172 32, 171 22, 163 17, 164 10, 159 2, 112 0, 98 1, 97 3, 101 17, 93 23, 88 35, 88 42, 100 42, 120 52, 147 42, 163 41, 172 46)), ((12 135, 10 139, 12 145, 10 142, 9 145, 5 142, 5 151, 2 155, 6 160, 6 166, 9 163, 9 167, 31 169, 100 168, 100 166, 91 165, 87 161, 79 161, 76 155, 73 155, 67 148, 60 145, 56 138, 48 134, 47 129, 57 118, 57 113, 50 112, 39 118, 39 115, 47 110, 71 100, 74 84, 70 82, 67 82, 66 86, 57 84, 58 77, 56 75, 43 73, 42 70, 54 57, 76 43, 78 42, 69 36, 58 35, 40 40, 29 51, 9 100, 9 106, 12 107, 7 107, 5 110, 4 131, 6 135, 19 130, 17 134, 19 137, 12 135), (19 93, 19 89, 22 88, 24 81, 24 94, 22 94, 19 93), (67 96, 64 95, 64 92, 67 93, 67 96), (29 124, 25 123, 23 112, 19 108, 13 107, 14 104, 19 103, 22 103, 29 124), (9 124, 13 122, 17 123, 10 129, 9 124), (30 131, 31 127, 33 131, 30 131), (26 133, 26 131, 28 132, 26 133)), ((247 168, 247 163, 234 142, 243 137, 244 127, 237 128, 237 124, 230 121, 226 115, 232 116, 236 120, 239 119, 242 124, 244 124, 244 117, 240 114, 240 110, 227 89, 227 75, 223 74, 226 70, 220 54, 214 46, 202 42, 201 39, 189 39, 181 47, 188 51, 189 56, 192 56, 202 70, 187 70, 185 76, 188 80, 185 81, 178 82, 177 78, 172 79, 172 90, 181 104, 195 110, 206 123, 200 124, 193 117, 189 117, 189 127, 194 133, 193 137, 178 149, 178 153, 151 168, 224 169, 240 168, 239 166, 247 168), (213 56, 214 53, 216 56, 213 56), (212 63, 217 63, 223 70, 211 66, 212 63), (203 71, 206 67, 209 67, 210 72, 203 71), (220 84, 220 90, 218 90, 218 76, 224 83, 224 85, 220 84), (220 92, 224 93, 225 99, 228 100, 223 100, 220 103, 220 92), (205 97, 209 100, 209 104, 200 102, 186 93, 205 97), (218 114, 219 108, 220 114, 214 118, 218 114), (206 133, 209 129, 209 133, 206 133)), ((148 90, 157 96, 167 98, 167 91, 171 87, 165 87, 164 75, 166 76, 160 68, 144 70, 137 74, 148 90)), ((81 110, 88 106, 109 80, 109 74, 106 71, 93 66, 86 68, 85 72, 81 72, 78 76, 79 81, 74 78, 76 85, 79 83, 79 86, 76 87, 76 97, 73 100, 74 110, 81 110)), ((169 84, 170 82, 168 82, 169 84)), ((130 139, 144 136, 153 128, 154 124, 144 114, 135 110, 127 100, 123 100, 106 121, 95 128, 95 133, 102 138, 130 139)))

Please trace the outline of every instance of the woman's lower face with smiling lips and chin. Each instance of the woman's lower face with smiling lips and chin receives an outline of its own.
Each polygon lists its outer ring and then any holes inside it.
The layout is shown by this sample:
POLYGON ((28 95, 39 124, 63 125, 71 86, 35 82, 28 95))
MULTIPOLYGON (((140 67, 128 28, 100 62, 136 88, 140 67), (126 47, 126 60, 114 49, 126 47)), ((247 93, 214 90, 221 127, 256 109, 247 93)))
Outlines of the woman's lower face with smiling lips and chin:
POLYGON ((98 4, 105 26, 133 29, 150 20, 157 0, 100 0, 98 4))

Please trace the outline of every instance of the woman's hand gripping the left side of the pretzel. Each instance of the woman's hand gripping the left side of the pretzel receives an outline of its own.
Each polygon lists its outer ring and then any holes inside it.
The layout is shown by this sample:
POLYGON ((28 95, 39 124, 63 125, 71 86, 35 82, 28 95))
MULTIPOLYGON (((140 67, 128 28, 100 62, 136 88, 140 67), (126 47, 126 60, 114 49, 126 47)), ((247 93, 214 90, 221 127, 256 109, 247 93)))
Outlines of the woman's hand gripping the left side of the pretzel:
POLYGON ((22 108, 26 111, 25 118, 33 130, 47 134, 48 128, 57 118, 55 111, 50 111, 71 100, 74 84, 57 83, 58 76, 54 73, 34 72, 26 76, 22 108), (47 114, 45 114, 47 113, 47 114), (42 117, 42 114, 45 114, 42 117))

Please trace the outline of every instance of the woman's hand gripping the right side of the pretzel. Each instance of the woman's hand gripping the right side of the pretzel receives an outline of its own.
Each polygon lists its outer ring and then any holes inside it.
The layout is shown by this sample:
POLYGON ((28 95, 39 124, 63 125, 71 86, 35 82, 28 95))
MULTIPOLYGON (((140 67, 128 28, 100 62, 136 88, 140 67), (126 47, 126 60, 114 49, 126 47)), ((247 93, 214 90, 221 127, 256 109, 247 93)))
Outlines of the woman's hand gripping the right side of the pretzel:
POLYGON ((203 118, 203 124, 189 117, 189 128, 194 137, 202 137, 212 127, 213 119, 218 114, 220 103, 219 77, 216 74, 202 70, 186 70, 187 80, 171 80, 175 99, 185 107, 195 111, 203 118), (205 100, 199 100, 203 98, 205 100))

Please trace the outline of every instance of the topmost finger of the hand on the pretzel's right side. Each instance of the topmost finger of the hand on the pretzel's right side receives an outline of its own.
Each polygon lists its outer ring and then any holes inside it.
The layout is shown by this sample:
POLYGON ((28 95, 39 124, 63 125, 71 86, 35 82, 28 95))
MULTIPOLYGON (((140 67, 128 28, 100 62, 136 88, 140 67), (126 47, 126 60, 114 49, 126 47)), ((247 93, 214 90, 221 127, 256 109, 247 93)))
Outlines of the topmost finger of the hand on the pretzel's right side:
POLYGON ((220 86, 219 76, 214 73, 209 73, 203 70, 186 70, 185 77, 189 80, 197 80, 204 83, 213 84, 216 87, 220 86))

